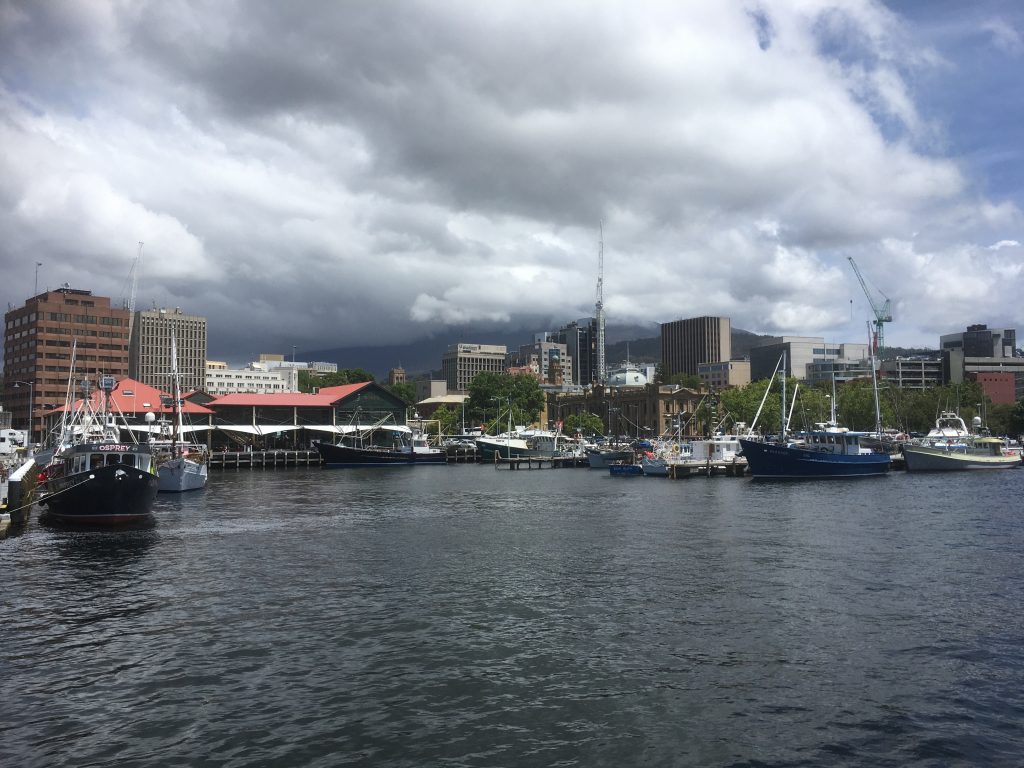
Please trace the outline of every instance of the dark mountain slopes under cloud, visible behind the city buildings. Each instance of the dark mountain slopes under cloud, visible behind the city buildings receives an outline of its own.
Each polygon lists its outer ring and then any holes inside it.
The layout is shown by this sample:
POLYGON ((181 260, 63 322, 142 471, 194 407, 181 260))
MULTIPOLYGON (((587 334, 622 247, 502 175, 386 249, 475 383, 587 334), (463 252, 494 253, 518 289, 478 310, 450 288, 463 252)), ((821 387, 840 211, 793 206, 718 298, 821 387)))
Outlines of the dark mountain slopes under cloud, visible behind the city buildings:
MULTIPOLYGON (((627 359, 627 349, 631 362, 659 362, 662 360, 662 337, 657 327, 608 326, 605 329, 605 360, 614 368, 627 359)), ((453 332, 444 337, 428 338, 413 344, 392 347, 342 347, 303 351, 301 359, 337 362, 338 368, 361 368, 374 374, 378 380, 387 378, 392 368, 402 368, 410 379, 421 374, 439 371, 441 355, 452 344, 504 344, 513 349, 529 344, 534 339, 530 331, 480 331, 472 328, 453 332)), ((765 336, 732 329, 732 356, 745 357, 751 347, 778 341, 776 336, 765 336)))

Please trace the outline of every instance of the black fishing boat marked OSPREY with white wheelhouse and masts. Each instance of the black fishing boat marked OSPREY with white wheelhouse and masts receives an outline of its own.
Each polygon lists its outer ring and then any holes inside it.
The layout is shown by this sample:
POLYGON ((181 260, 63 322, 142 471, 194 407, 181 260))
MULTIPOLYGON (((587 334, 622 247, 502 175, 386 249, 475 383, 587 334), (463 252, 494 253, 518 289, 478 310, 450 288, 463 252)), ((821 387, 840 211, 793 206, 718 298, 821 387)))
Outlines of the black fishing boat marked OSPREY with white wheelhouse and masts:
MULTIPOLYGON (((106 407, 116 386, 113 377, 100 379, 106 407)), ((114 417, 106 408, 94 409, 88 393, 76 403, 66 433, 39 476, 39 504, 47 517, 95 525, 150 519, 158 486, 152 449, 123 441, 114 417)))

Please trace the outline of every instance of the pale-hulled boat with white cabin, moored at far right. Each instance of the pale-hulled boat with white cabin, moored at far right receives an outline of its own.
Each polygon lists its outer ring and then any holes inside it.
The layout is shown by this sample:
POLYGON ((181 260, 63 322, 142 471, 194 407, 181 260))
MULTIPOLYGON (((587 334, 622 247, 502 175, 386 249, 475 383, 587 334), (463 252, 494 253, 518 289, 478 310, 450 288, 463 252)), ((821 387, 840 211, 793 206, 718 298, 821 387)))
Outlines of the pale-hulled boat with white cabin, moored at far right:
POLYGON ((944 412, 925 437, 904 443, 903 461, 908 472, 950 472, 1013 469, 1021 456, 999 437, 972 434, 957 414, 944 412))

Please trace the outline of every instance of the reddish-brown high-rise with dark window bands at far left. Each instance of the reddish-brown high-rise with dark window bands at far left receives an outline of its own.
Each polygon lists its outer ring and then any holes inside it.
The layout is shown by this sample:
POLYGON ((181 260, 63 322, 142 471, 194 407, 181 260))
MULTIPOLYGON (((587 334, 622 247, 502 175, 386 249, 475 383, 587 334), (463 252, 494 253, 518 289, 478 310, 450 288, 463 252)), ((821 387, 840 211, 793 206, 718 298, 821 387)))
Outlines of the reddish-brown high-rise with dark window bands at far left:
POLYGON ((75 382, 128 375, 127 309, 104 296, 74 289, 33 296, 4 315, 4 406, 30 440, 43 437, 42 414, 65 404, 74 353, 75 382))

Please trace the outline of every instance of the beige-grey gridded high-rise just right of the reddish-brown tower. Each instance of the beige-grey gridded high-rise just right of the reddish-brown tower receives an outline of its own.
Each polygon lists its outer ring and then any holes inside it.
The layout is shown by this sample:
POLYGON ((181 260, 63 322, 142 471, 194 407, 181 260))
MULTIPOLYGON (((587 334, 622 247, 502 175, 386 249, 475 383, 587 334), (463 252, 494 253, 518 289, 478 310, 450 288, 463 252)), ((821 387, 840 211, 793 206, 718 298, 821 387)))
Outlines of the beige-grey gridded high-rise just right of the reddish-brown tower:
POLYGON ((131 378, 164 392, 174 391, 171 339, 177 347, 181 391, 206 387, 206 317, 180 308, 135 312, 131 329, 131 378))

